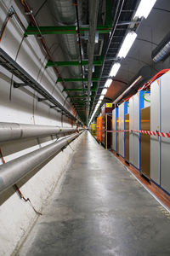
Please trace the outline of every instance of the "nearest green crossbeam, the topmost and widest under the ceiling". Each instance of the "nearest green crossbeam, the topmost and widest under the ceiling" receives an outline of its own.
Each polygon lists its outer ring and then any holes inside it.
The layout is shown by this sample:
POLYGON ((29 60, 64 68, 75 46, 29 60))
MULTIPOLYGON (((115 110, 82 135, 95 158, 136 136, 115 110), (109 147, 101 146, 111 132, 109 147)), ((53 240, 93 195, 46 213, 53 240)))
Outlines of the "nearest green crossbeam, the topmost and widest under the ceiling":
MULTIPOLYGON (((25 32, 25 37, 28 35, 42 35, 49 34, 77 34, 77 26, 28 26, 25 32)), ((109 33, 111 32, 111 25, 100 25, 96 28, 99 33, 109 33)), ((85 31, 89 31, 89 27, 80 27, 80 34, 84 34, 85 31)))

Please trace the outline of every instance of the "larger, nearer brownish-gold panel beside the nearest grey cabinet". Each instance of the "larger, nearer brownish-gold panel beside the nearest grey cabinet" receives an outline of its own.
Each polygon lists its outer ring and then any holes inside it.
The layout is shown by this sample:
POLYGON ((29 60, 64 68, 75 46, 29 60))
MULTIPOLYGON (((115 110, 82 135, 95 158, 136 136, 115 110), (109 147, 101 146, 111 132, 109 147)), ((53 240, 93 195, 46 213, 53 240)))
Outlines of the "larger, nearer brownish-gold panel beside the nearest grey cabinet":
MULTIPOLYGON (((150 131, 150 107, 140 110, 140 130, 150 131)), ((140 169, 150 178, 150 136, 141 134, 140 142, 140 169)))

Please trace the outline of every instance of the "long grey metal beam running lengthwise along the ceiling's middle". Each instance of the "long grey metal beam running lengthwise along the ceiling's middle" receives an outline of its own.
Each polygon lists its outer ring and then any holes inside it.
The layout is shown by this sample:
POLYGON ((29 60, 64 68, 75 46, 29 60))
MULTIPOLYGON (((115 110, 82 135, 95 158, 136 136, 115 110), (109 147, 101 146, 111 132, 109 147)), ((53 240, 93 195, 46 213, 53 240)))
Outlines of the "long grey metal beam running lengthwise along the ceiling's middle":
POLYGON ((92 82, 93 62, 94 62, 94 46, 95 34, 99 13, 99 0, 89 1, 89 40, 88 40, 88 109, 87 123, 89 113, 89 97, 92 82))

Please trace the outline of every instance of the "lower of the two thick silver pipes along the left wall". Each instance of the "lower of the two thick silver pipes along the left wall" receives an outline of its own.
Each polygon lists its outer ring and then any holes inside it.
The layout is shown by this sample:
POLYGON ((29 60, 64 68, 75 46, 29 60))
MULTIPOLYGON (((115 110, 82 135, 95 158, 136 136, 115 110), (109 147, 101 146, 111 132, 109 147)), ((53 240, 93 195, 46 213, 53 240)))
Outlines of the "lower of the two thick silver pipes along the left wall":
POLYGON ((0 193, 19 182, 49 157, 58 154, 76 137, 78 137, 77 133, 0 166, 0 193))

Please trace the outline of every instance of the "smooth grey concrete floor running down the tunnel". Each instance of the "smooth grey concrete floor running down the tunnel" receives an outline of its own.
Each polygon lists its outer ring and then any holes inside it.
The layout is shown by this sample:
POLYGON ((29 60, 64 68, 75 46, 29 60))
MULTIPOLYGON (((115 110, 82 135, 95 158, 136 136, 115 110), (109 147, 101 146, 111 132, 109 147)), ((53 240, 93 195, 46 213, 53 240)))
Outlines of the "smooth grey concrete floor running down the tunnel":
POLYGON ((170 255, 170 216, 87 131, 18 255, 170 255))

